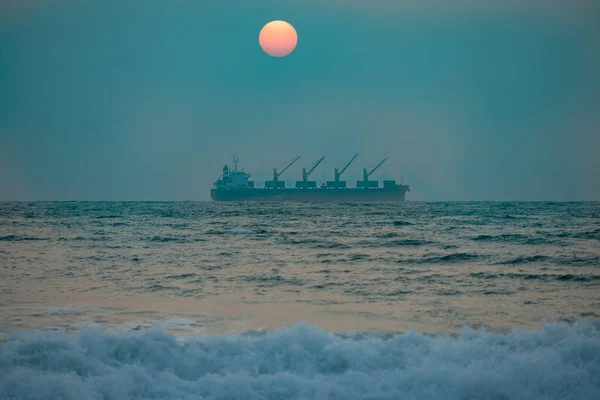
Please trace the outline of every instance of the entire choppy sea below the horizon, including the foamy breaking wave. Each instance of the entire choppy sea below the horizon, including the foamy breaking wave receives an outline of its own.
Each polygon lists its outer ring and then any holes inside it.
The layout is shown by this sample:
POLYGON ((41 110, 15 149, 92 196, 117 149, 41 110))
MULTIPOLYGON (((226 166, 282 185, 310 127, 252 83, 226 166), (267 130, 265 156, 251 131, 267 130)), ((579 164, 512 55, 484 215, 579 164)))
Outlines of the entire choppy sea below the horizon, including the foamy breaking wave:
POLYGON ((0 399, 600 399, 600 203, 0 203, 0 399))

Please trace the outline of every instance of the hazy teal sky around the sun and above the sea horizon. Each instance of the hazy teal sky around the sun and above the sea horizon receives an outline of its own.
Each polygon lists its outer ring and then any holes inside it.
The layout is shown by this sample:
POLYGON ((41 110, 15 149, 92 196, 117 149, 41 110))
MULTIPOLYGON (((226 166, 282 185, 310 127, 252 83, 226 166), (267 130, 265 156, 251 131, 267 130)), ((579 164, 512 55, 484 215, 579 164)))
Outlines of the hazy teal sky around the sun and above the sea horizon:
POLYGON ((600 200, 600 2, 0 1, 0 200, 208 200, 384 157, 415 200, 600 200), (262 26, 292 23, 290 56, 262 26))

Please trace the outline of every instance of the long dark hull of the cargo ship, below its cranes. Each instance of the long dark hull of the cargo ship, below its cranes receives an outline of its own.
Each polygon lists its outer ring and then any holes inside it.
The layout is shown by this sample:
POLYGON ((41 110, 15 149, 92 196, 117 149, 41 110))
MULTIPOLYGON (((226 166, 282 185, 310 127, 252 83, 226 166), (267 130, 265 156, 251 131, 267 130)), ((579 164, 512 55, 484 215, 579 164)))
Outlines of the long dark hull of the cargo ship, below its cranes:
POLYGON ((394 189, 212 189, 214 201, 405 201, 406 186, 394 189))

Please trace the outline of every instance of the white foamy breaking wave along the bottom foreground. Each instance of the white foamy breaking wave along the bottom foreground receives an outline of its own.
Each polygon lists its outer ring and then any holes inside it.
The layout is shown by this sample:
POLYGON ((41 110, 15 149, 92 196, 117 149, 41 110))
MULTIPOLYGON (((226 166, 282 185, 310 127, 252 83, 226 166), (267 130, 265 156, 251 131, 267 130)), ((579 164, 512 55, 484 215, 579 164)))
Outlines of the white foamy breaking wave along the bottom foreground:
POLYGON ((2 399, 598 399, 600 323, 458 336, 340 336, 306 324, 177 340, 23 332, 0 343, 2 399))

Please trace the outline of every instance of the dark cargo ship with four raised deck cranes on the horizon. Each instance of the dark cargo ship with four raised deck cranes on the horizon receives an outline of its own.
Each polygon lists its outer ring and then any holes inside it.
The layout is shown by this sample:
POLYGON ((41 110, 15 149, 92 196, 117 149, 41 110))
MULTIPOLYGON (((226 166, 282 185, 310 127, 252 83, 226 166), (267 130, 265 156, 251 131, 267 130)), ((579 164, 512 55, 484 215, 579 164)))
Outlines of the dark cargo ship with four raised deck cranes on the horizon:
POLYGON ((257 188, 254 187, 254 181, 250 180, 251 174, 244 170, 238 171, 239 159, 234 156, 233 170, 227 165, 223 167, 223 175, 215 181, 210 197, 215 201, 405 201, 406 192, 410 191, 408 185, 398 184, 394 180, 384 180, 380 186, 379 181, 370 180, 371 175, 387 158, 370 171, 364 168, 363 180, 357 181, 354 188, 347 187, 346 181, 341 180, 341 177, 356 157, 358 153, 341 170, 334 168, 332 181, 317 185, 317 181, 309 180, 309 177, 325 159, 321 157, 308 170, 302 168, 302 180, 296 181, 296 187, 287 188, 285 181, 279 178, 298 161, 300 158, 298 156, 281 172, 273 168, 273 180, 266 181, 264 188, 257 188))

